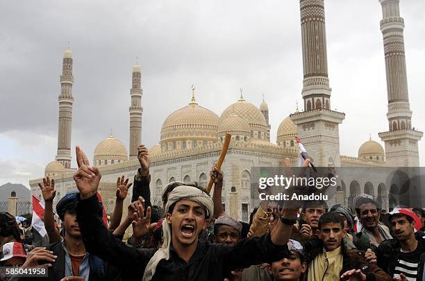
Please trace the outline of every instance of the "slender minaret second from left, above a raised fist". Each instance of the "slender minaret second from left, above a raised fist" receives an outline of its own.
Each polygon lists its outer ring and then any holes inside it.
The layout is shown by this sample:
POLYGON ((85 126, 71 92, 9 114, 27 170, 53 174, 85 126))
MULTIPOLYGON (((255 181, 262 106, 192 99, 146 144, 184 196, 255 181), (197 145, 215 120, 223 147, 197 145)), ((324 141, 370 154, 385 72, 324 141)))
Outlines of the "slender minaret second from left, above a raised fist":
POLYGON ((140 65, 136 60, 133 66, 133 82, 130 90, 131 106, 128 107, 130 112, 130 157, 138 156, 138 146, 142 144, 143 90, 140 82, 141 76, 140 65))

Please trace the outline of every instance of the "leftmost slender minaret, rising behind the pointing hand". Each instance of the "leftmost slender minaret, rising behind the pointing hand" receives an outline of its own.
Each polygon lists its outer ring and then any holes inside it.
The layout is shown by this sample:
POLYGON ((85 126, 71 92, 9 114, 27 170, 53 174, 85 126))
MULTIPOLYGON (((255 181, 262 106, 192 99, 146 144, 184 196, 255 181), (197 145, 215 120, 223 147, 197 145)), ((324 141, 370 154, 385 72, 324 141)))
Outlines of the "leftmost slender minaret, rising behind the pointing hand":
POLYGON ((58 154, 56 160, 66 169, 71 167, 71 130, 72 130, 72 51, 68 47, 63 56, 62 75, 60 75, 58 154))

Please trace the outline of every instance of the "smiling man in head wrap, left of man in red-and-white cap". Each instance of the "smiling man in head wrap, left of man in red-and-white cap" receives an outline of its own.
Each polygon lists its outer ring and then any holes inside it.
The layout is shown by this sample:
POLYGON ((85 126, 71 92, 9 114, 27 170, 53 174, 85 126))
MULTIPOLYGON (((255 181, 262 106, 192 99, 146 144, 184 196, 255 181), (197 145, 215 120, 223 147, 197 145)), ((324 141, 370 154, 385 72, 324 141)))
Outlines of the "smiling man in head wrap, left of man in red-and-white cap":
MULTIPOLYGON (((369 194, 360 194, 353 199, 358 219, 363 226, 361 233, 356 236, 367 236, 368 248, 376 248, 383 240, 392 239, 387 226, 379 223, 378 203, 369 194)), ((363 237, 361 237, 363 238, 363 237)))

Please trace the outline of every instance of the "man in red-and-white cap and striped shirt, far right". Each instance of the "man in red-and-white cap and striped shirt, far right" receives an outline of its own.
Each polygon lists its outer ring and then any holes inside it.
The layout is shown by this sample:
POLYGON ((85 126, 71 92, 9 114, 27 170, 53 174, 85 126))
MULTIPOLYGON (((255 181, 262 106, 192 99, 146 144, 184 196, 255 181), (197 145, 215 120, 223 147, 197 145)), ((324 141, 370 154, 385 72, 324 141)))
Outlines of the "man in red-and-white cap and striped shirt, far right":
MULTIPOLYGON (((394 280, 417 280, 421 255, 425 252, 425 239, 415 234, 422 225, 419 217, 410 208, 394 208, 390 212, 394 239, 382 242, 376 249, 378 266, 394 280)), ((419 279, 418 279, 419 280, 419 279)))

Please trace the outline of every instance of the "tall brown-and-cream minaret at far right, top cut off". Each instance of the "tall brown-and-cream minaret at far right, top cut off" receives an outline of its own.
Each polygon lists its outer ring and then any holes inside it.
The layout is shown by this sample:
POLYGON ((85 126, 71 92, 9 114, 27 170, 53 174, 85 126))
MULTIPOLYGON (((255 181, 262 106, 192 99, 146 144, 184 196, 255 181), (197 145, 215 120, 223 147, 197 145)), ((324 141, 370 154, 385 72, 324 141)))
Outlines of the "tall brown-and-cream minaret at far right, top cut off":
POLYGON ((388 96, 388 132, 379 133, 385 142, 387 165, 419 167, 417 141, 423 133, 412 129, 404 53, 404 19, 400 17, 399 0, 379 0, 383 19, 381 32, 385 53, 388 96))

